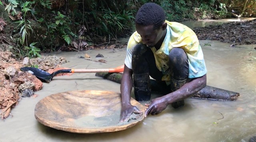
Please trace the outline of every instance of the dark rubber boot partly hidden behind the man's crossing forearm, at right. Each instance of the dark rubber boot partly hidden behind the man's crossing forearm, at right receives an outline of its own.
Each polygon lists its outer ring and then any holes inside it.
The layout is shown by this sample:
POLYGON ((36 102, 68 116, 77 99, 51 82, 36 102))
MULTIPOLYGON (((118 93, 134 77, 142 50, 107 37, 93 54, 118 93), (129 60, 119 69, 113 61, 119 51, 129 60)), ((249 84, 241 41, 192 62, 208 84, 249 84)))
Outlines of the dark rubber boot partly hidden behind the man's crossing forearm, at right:
MULTIPOLYGON (((183 81, 178 81, 174 78, 171 79, 171 91, 174 92, 178 89, 180 89, 180 87, 182 87, 184 84, 186 84, 187 79, 183 80, 183 81)), ((178 101, 178 102, 174 102, 172 103, 172 107, 173 108, 180 108, 183 107, 185 105, 184 100, 178 101)))

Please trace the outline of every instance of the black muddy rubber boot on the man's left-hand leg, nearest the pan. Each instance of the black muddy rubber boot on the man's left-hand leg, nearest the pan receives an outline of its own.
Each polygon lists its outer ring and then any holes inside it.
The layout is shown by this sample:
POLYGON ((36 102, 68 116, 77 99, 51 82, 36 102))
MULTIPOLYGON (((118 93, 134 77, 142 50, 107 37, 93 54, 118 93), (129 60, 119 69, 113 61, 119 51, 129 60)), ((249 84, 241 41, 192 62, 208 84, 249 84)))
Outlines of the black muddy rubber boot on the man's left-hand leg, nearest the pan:
POLYGON ((149 101, 151 97, 149 73, 133 74, 136 101, 149 101))

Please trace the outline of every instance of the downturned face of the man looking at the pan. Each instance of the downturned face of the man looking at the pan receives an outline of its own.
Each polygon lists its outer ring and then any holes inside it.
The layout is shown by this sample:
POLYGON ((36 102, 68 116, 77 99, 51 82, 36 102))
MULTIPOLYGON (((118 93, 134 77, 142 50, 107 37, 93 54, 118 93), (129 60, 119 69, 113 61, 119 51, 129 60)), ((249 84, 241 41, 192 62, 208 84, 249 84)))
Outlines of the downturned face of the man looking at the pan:
POLYGON ((142 38, 142 42, 149 47, 153 47, 156 45, 156 43, 161 39, 163 30, 162 28, 155 29, 154 30, 154 25, 140 25, 140 24, 135 24, 136 30, 138 34, 140 34, 142 38))

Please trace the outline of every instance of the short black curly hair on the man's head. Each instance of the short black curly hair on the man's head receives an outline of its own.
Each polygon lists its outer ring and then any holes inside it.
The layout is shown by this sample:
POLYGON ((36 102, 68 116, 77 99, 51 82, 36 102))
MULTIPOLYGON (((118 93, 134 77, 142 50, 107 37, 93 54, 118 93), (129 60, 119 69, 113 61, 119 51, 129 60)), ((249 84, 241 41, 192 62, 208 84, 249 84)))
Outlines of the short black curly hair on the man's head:
POLYGON ((135 16, 135 22, 142 25, 154 24, 154 29, 160 28, 165 21, 164 10, 155 3, 143 4, 135 16))

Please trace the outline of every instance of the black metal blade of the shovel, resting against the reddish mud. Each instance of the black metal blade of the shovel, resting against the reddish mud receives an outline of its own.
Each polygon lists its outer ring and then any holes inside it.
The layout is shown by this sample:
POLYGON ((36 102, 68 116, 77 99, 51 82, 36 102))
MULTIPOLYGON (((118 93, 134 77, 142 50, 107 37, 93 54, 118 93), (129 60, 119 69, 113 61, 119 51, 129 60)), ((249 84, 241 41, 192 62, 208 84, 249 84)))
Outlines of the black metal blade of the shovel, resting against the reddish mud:
POLYGON ((35 75, 38 79, 40 79, 43 82, 49 82, 52 79, 52 76, 50 73, 35 67, 22 67, 20 68, 20 70, 35 75))

